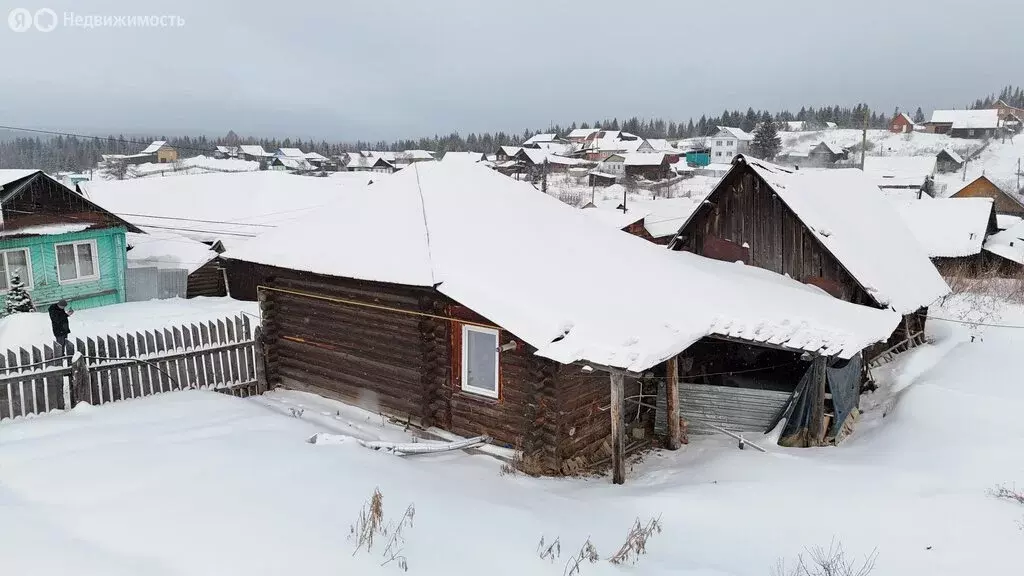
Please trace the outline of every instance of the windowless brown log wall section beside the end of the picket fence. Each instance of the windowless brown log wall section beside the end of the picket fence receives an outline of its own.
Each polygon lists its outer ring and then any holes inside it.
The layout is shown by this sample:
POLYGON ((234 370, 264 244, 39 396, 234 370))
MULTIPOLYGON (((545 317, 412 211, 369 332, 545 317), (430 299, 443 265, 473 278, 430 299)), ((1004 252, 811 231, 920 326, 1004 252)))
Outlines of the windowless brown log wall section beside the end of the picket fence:
MULTIPOLYGON (((427 290, 279 271, 275 288, 417 311, 427 290)), ((421 318, 282 292, 262 293, 271 383, 322 394, 418 424, 424 399, 421 318)))

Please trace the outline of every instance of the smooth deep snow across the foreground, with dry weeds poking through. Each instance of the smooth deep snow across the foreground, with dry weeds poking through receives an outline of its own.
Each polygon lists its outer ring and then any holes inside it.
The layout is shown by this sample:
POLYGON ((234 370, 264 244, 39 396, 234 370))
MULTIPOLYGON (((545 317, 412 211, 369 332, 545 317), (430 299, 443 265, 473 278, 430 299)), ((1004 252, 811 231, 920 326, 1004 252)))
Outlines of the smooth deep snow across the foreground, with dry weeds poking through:
MULTIPOLYGON (((1022 325, 1024 311, 996 321, 1022 325)), ((482 454, 374 452, 354 439, 408 436, 298 393, 173 393, 6 421, 0 558, 5 573, 44 576, 400 573, 380 566, 386 539, 354 556, 347 539, 379 488, 385 521, 415 504, 411 574, 557 576, 588 537, 602 560, 584 576, 766 575, 834 539, 851 557, 876 550, 876 575, 1019 573, 1024 506, 987 491, 1024 485, 1024 331, 971 343, 932 325, 934 343, 881 371, 842 446, 762 454, 705 439, 646 455, 625 486, 510 476, 482 454), (308 444, 316 433, 353 438, 308 444), (647 554, 605 562, 638 517, 664 527, 647 554), (542 535, 561 542, 554 563, 538 557, 542 535)))

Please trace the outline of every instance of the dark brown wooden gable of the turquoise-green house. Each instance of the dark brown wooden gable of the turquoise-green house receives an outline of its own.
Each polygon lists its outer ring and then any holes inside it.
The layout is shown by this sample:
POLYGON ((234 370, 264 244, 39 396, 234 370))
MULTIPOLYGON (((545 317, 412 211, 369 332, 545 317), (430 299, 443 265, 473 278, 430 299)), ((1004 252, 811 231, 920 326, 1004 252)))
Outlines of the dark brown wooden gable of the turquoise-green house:
POLYGON ((0 192, 5 230, 54 223, 86 223, 90 229, 124 227, 142 232, 43 172, 11 182, 0 192))

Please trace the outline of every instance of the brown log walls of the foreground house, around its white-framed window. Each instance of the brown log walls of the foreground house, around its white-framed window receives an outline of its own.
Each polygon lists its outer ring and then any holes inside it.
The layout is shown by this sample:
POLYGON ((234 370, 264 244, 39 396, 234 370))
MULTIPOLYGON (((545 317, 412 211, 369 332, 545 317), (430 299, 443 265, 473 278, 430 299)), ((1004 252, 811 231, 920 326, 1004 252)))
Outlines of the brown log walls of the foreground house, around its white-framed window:
MULTIPOLYGON (((558 474, 568 459, 606 457, 610 431, 607 374, 538 357, 501 330, 498 399, 462 390, 463 323, 490 323, 427 288, 362 282, 248 264, 232 273, 266 285, 428 316, 333 302, 276 291, 260 293, 267 379, 371 411, 461 436, 488 435, 520 450, 527 471, 558 474)), ((236 283, 230 279, 232 295, 236 283)), ((639 394, 626 381, 626 395, 639 394)), ((631 413, 636 405, 627 403, 631 413)))

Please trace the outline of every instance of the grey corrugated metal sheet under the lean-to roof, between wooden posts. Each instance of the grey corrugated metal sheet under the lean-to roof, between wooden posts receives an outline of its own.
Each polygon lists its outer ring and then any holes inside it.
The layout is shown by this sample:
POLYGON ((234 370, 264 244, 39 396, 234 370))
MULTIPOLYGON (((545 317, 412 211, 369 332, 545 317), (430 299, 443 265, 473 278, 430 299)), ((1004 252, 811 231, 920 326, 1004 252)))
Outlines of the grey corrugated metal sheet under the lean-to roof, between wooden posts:
MULTIPOLYGON (((679 411, 691 435, 716 434, 705 422, 734 433, 763 433, 792 396, 788 392, 680 382, 679 411)), ((667 410, 665 385, 662 385, 654 415, 654 429, 658 434, 668 434, 667 410)))

